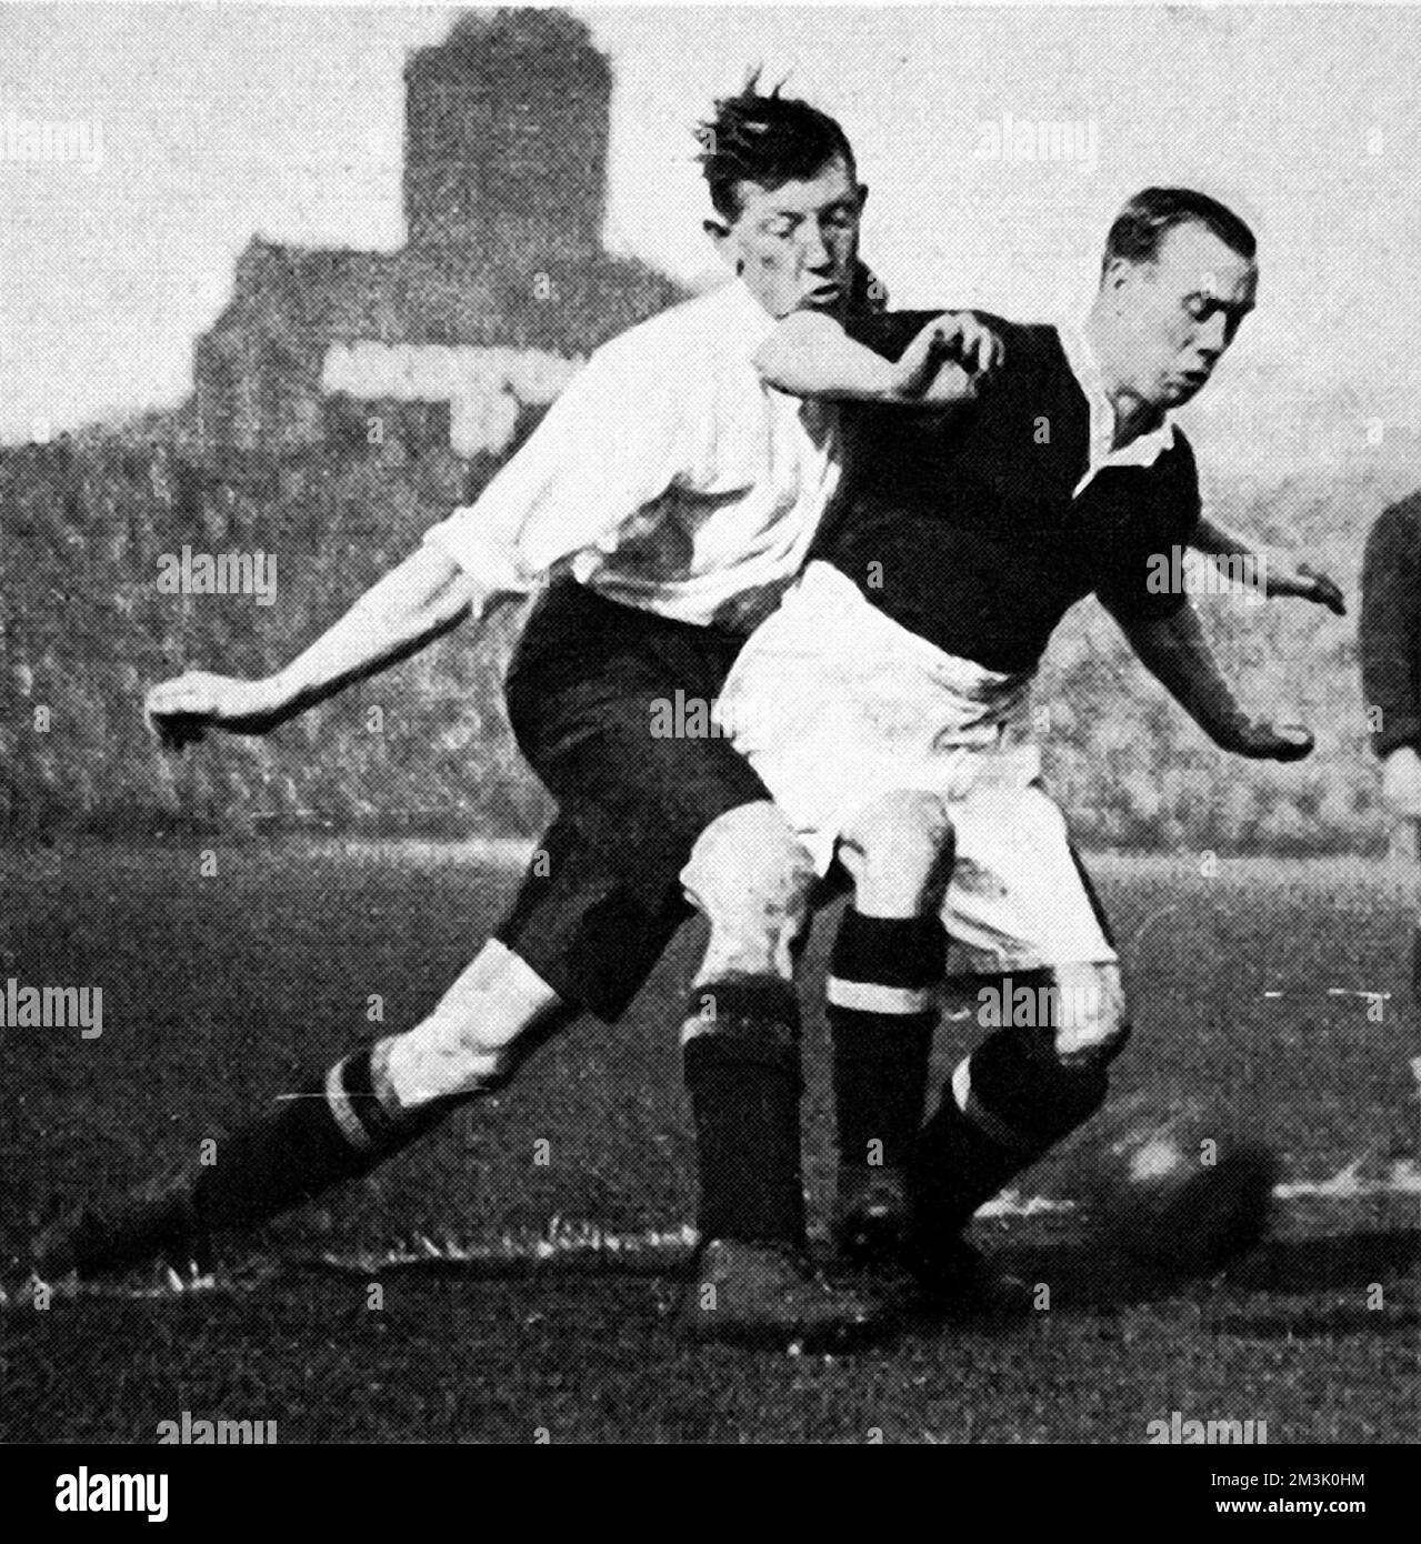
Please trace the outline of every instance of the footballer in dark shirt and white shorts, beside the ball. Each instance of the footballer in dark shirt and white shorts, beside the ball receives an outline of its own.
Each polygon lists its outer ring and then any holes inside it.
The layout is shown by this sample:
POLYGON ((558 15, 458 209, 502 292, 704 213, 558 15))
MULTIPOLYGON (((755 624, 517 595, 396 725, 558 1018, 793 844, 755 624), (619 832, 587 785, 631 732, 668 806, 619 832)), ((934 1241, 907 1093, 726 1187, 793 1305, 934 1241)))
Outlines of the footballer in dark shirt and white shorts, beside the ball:
MULTIPOLYGON (((1188 594, 1163 577, 1182 548, 1228 545, 1202 540, 1194 455, 1169 414, 1253 309, 1254 253, 1216 201, 1151 188, 1111 229, 1080 334, 989 318, 1004 363, 979 377, 950 366, 961 400, 947 425, 941 411, 850 409, 839 508, 732 667, 723 727, 819 871, 837 858, 854 882, 828 982, 836 1235, 851 1258, 893 1254, 955 1280, 962 1226, 1100 1107, 1129 1031, 1118 956, 1027 726, 1066 611, 1097 594, 1217 744, 1279 761, 1311 749, 1307 730, 1237 706, 1188 594), (999 1027, 919 1130, 944 928, 1001 982, 984 1017, 999 1027), (1013 984, 1041 1005, 1030 1024, 1013 984)), ((766 378, 839 398, 862 380, 867 395, 876 357, 921 347, 931 320, 863 318, 829 337, 836 326, 782 324, 766 378)), ((1270 590, 1339 604, 1319 576, 1270 590)))

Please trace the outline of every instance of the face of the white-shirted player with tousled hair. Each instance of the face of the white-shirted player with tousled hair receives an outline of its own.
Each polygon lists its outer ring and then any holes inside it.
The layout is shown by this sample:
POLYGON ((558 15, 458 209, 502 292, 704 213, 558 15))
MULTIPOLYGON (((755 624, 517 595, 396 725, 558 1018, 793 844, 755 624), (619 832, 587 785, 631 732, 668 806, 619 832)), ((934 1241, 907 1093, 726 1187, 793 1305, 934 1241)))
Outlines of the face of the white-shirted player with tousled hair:
POLYGON ((740 213, 710 227, 721 256, 771 317, 839 309, 859 255, 865 190, 836 157, 812 178, 765 187, 741 182, 740 213))

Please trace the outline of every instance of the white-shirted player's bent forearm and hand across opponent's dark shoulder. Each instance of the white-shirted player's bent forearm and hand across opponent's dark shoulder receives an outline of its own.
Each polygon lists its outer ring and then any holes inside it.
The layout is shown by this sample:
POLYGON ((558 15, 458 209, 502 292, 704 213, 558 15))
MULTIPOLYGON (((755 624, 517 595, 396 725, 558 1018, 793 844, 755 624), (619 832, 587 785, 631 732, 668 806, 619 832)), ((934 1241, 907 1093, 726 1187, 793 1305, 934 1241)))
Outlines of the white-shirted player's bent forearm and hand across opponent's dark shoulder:
POLYGON ((968 312, 934 317, 900 358, 887 360, 834 317, 797 310, 761 344, 755 369, 791 397, 950 408, 972 401, 978 377, 1001 360, 1001 338, 968 312))

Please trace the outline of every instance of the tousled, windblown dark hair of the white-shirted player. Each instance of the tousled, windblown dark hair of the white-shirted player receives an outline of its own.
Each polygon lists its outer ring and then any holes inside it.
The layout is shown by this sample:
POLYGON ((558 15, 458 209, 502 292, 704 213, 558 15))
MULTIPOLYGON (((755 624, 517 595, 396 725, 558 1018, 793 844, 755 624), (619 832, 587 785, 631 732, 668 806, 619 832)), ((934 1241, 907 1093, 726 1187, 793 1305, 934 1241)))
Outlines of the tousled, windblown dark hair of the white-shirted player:
POLYGON ((718 97, 714 114, 697 125, 701 144, 697 161, 710 202, 726 219, 740 213, 737 187, 743 181, 778 187, 794 178, 812 178, 836 156, 854 170, 854 151, 839 124, 780 91, 782 86, 761 91, 757 69, 735 96, 718 97))

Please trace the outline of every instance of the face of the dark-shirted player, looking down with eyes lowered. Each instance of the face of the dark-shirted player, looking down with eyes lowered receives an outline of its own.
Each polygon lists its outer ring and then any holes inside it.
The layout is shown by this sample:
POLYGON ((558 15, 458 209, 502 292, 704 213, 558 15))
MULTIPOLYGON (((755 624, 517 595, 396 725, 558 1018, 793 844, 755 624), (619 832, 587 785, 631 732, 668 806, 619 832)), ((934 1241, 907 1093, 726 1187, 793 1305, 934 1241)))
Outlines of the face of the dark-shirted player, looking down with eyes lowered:
POLYGON ((1253 310, 1257 264, 1205 225, 1175 225, 1152 262, 1106 275, 1117 317, 1121 384, 1160 409, 1194 397, 1253 310))

